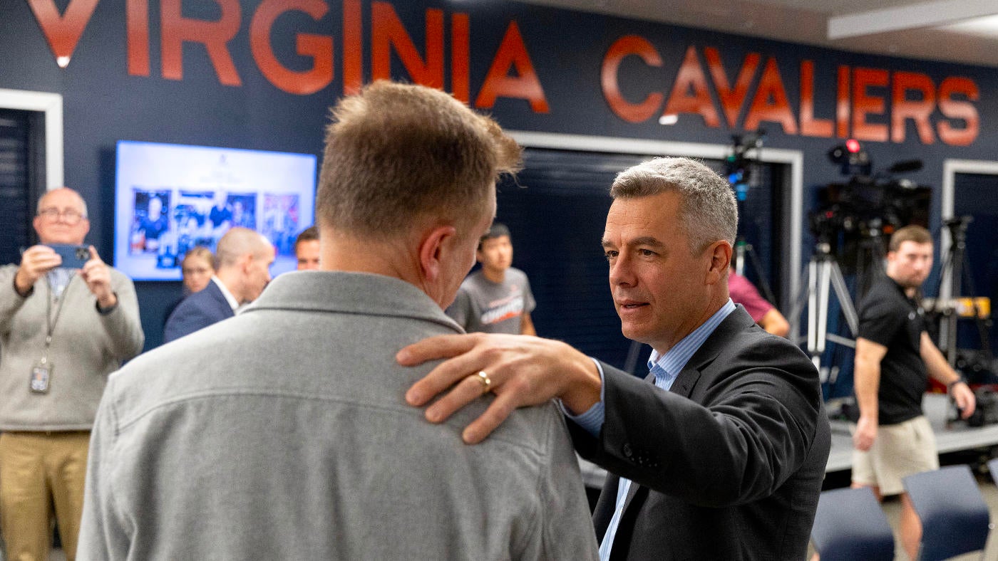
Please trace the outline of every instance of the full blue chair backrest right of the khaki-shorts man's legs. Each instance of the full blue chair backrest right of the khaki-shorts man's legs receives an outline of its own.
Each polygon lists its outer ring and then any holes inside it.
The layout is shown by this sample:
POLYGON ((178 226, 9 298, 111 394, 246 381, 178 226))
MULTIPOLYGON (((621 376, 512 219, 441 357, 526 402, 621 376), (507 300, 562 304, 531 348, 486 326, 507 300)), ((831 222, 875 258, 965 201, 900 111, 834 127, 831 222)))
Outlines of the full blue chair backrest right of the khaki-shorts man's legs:
POLYGON ((949 559, 984 549, 990 531, 988 504, 968 465, 948 465, 904 478, 922 521, 920 561, 949 559))

